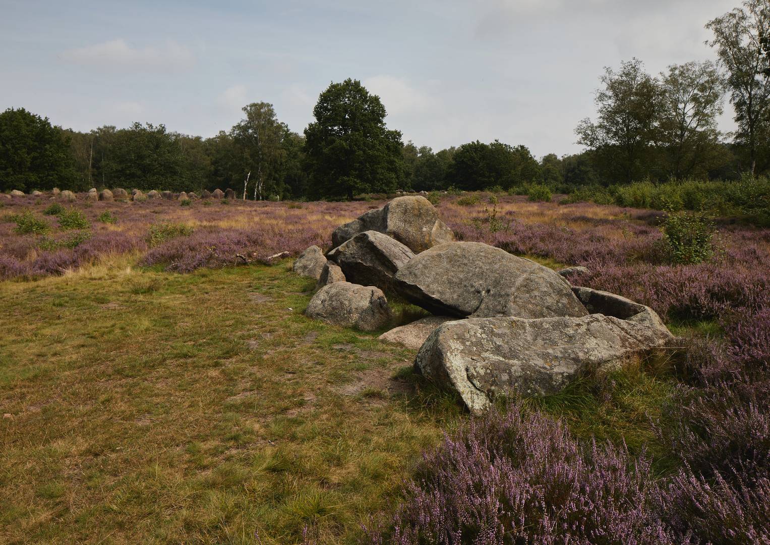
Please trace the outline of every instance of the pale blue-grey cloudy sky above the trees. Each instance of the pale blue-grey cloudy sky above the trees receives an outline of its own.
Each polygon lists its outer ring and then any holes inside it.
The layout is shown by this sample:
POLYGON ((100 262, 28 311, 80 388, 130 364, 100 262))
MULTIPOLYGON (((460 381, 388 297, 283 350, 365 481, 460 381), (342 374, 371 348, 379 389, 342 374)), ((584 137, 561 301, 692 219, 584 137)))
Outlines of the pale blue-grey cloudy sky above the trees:
MULTIPOLYGON (((302 133, 330 82, 360 79, 389 128, 577 153, 605 66, 715 60, 704 25, 739 0, 0 0, 0 111, 55 125, 229 130, 248 103, 302 133)), ((721 130, 732 130, 725 102, 721 130)))

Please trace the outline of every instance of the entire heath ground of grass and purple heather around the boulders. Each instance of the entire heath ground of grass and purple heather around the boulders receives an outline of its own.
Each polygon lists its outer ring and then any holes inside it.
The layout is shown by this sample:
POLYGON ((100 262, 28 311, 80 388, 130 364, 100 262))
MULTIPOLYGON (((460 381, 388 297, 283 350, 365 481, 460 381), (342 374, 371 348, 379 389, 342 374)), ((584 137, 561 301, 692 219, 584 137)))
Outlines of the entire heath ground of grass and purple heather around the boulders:
POLYGON ((715 253, 674 264, 660 211, 431 198, 678 338, 471 418, 413 351, 303 316, 283 252, 384 196, 3 200, 0 540, 770 543, 770 230, 716 218, 715 253))

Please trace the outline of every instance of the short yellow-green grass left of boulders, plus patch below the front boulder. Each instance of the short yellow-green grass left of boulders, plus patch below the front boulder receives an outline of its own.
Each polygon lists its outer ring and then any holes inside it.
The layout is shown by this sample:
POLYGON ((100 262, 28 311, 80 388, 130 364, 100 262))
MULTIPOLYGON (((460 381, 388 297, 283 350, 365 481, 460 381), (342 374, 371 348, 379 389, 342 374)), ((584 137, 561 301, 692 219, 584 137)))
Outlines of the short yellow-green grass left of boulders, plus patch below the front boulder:
MULTIPOLYGON (((288 263, 0 283, 0 539, 357 543, 465 416, 413 352, 305 318, 288 263)), ((626 382, 538 402, 639 446, 668 382, 626 382)))

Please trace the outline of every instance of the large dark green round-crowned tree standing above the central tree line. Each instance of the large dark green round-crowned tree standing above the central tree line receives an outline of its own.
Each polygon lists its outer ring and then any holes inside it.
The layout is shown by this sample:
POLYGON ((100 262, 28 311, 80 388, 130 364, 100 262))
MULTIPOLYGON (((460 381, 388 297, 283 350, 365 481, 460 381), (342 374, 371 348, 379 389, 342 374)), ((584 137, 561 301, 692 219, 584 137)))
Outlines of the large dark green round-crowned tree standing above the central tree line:
POLYGON ((305 129, 310 190, 316 197, 396 190, 403 180, 401 133, 385 126, 385 106, 357 79, 332 83, 305 129))

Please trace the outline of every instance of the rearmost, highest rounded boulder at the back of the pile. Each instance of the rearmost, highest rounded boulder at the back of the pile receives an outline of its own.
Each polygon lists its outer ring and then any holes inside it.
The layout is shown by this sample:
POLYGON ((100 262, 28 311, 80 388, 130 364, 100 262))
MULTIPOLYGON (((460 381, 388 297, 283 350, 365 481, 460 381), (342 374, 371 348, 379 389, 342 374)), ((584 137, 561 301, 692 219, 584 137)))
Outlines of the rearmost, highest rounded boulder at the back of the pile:
POLYGON ((430 200, 419 195, 397 197, 382 208, 369 210, 358 219, 340 225, 332 233, 332 244, 337 247, 367 230, 387 234, 415 254, 454 241, 452 230, 438 219, 430 200))

